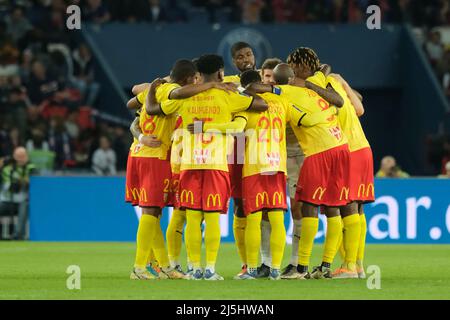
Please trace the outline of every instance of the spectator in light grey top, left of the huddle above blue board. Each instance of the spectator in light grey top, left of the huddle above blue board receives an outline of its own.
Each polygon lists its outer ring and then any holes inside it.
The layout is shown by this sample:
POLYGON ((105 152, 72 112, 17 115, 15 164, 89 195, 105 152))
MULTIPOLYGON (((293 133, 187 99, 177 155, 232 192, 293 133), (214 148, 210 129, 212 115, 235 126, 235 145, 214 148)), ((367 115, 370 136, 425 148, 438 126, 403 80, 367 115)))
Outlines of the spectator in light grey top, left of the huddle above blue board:
POLYGON ((100 147, 92 156, 92 170, 99 176, 111 176, 116 171, 116 153, 111 149, 111 143, 105 136, 100 137, 100 147))

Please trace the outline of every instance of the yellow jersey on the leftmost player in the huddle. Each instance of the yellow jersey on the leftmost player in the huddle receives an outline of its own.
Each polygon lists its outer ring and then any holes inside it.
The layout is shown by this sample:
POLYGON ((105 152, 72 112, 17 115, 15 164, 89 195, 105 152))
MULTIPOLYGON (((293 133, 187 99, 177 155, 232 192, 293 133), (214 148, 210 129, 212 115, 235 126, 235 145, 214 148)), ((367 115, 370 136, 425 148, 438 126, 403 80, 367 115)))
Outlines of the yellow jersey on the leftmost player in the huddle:
MULTIPOLYGON (((162 103, 169 99, 169 94, 172 90, 180 87, 176 83, 165 83, 159 86, 156 90, 156 99, 162 103)), ((170 117, 164 116, 151 116, 148 115, 145 110, 146 99, 148 95, 148 89, 137 95, 137 100, 142 104, 141 113, 139 116, 139 127, 142 134, 153 135, 156 139, 161 141, 161 146, 158 148, 150 148, 139 143, 135 140, 131 145, 132 157, 144 157, 144 158, 158 158, 160 160, 168 159, 168 152, 172 145, 172 133, 176 125, 176 116, 170 117)))

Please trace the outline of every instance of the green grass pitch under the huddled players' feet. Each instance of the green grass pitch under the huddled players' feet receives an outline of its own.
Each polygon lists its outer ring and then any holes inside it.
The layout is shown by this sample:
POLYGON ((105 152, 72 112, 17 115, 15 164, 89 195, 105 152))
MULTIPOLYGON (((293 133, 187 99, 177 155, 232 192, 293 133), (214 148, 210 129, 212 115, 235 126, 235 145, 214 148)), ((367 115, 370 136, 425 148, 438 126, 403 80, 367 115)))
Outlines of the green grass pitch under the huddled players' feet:
MULTIPOLYGON (((0 242, 0 299, 450 299, 449 245, 367 245, 366 265, 381 269, 379 290, 359 279, 235 281, 234 244, 219 252, 225 281, 131 281, 134 250, 133 243, 0 242), (66 287, 69 265, 81 268, 81 290, 66 287)), ((312 264, 321 252, 314 247, 312 264)))

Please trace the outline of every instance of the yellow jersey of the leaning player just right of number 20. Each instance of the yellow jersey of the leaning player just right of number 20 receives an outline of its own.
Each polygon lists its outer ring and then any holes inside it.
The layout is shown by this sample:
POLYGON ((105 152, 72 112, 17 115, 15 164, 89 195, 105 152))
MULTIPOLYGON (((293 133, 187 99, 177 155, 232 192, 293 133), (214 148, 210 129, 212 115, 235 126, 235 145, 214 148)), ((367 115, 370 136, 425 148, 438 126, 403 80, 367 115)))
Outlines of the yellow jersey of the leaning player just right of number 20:
POLYGON ((280 89, 281 96, 288 99, 294 105, 291 108, 296 110, 291 116, 291 126, 306 157, 347 144, 337 116, 330 116, 327 123, 312 127, 298 126, 304 114, 330 108, 327 101, 307 88, 283 85, 280 89))

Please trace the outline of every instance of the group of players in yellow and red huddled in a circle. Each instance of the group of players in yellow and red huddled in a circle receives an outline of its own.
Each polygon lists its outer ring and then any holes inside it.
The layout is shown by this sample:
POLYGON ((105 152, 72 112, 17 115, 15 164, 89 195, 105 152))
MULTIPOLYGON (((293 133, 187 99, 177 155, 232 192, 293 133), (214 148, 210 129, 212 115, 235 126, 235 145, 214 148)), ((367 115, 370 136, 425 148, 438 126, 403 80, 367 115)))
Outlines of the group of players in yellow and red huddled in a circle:
POLYGON ((130 278, 223 280, 215 264, 230 197, 242 263, 234 279, 364 278, 363 204, 374 201, 374 186, 361 95, 310 48, 295 49, 286 63, 268 59, 259 71, 247 43, 231 54, 239 75, 224 76, 222 57, 207 54, 133 87, 126 201, 142 216, 130 278), (287 197, 292 255, 281 270, 287 197), (166 206, 167 249, 159 220, 166 206), (323 258, 310 272, 319 211, 327 217, 323 258), (338 251, 343 262, 333 272, 338 251))

